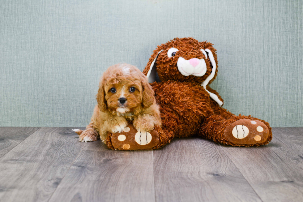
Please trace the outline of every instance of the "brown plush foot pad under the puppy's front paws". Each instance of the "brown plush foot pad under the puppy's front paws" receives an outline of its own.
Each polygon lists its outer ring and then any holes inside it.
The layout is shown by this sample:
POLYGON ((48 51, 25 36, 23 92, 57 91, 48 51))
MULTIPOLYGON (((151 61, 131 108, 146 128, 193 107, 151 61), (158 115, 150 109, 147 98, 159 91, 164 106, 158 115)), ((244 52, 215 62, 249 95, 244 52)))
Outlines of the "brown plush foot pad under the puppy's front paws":
POLYGON ((118 150, 151 149, 159 143, 159 133, 155 130, 138 132, 132 124, 128 124, 121 133, 111 135, 111 143, 118 150))

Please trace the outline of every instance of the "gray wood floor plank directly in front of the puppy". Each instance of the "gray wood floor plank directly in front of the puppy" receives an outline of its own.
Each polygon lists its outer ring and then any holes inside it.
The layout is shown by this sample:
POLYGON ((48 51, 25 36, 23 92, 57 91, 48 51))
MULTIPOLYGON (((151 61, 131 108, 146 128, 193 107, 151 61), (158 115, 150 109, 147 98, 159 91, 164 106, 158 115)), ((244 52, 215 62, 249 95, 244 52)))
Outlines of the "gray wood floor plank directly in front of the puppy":
POLYGON ((153 151, 114 151, 100 140, 82 144, 50 202, 155 201, 153 151))

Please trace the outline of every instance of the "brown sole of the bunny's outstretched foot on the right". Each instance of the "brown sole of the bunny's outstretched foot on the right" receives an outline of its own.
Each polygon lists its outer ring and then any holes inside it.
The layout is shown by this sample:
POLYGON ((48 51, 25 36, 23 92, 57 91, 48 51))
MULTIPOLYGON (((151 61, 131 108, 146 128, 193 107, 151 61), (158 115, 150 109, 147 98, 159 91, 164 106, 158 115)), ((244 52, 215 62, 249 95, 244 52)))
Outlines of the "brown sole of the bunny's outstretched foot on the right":
POLYGON ((240 119, 233 122, 224 130, 224 137, 234 144, 256 145, 267 141, 268 127, 259 120, 240 119))

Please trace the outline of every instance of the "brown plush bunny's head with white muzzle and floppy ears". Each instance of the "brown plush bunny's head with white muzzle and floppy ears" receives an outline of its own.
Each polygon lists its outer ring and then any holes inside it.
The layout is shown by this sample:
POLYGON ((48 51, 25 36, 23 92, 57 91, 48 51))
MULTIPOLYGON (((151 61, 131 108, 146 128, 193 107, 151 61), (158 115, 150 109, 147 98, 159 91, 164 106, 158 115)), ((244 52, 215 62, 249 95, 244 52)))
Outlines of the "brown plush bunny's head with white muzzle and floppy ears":
POLYGON ((177 80, 206 87, 217 75, 216 49, 210 42, 175 38, 154 50, 143 73, 148 81, 177 80))

